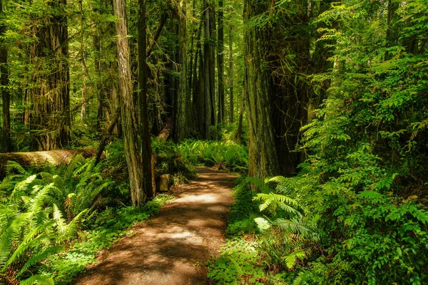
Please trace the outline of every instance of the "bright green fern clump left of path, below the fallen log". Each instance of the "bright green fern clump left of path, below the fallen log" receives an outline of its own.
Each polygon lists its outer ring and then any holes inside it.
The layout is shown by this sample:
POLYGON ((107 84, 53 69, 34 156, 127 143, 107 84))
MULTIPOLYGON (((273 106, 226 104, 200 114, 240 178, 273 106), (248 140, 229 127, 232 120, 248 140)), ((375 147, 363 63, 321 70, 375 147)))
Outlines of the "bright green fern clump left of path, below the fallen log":
POLYGON ((34 175, 16 162, 6 168, 9 175, 0 185, 0 280, 46 281, 45 275, 31 273, 34 266, 76 237, 98 195, 113 182, 101 177, 93 160, 80 157, 34 175))

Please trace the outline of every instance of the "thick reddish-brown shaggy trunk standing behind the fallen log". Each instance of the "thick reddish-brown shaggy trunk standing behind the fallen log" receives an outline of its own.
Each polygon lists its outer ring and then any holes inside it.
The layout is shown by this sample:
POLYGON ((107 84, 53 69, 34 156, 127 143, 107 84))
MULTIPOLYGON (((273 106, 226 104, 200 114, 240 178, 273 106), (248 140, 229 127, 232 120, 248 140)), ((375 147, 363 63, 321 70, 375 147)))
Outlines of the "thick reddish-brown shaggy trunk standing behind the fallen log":
POLYGON ((51 2, 54 16, 39 20, 38 41, 31 47, 34 66, 30 114, 31 150, 66 147, 70 138, 70 73, 66 0, 51 2))

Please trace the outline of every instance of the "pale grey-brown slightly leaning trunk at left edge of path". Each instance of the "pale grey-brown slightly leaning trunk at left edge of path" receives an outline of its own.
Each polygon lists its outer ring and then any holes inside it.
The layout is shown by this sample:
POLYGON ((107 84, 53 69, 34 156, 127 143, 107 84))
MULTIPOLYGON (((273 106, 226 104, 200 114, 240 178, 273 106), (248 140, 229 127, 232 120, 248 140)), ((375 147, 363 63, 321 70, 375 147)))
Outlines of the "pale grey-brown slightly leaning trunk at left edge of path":
POLYGON ((131 59, 126 28, 126 1, 113 0, 116 21, 116 44, 118 48, 118 82, 121 105, 123 143, 126 164, 128 165, 131 199, 134 207, 139 207, 147 200, 143 188, 143 166, 141 153, 138 150, 138 121, 133 100, 133 84, 131 78, 131 59))

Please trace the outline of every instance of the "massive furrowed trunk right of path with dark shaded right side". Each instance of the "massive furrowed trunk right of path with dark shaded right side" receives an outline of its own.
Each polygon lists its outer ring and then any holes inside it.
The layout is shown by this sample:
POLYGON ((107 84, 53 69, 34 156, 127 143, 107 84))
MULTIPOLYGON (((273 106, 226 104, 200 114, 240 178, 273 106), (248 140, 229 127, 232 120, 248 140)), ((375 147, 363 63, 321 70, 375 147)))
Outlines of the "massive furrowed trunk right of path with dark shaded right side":
POLYGON ((295 175, 307 122, 310 38, 307 0, 245 1, 245 90, 250 175, 295 175), (258 21, 254 21, 257 17, 258 21), (263 21, 260 21, 263 19, 263 21))

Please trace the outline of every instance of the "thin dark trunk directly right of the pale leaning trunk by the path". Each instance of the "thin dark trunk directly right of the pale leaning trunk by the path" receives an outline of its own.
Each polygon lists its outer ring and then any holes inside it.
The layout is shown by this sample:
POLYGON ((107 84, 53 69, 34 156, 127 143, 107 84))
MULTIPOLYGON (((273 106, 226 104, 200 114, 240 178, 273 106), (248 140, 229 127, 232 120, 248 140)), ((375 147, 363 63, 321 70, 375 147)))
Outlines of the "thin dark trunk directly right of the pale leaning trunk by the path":
POLYGON ((146 197, 153 198, 156 190, 153 175, 153 157, 151 149, 151 134, 148 122, 147 105, 147 26, 146 0, 138 0, 138 104, 140 105, 140 139, 142 158, 142 187, 146 197))

